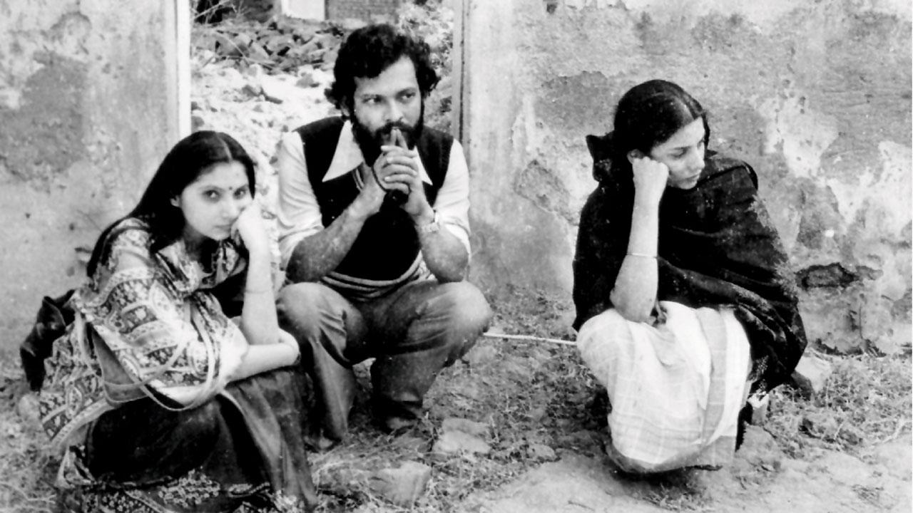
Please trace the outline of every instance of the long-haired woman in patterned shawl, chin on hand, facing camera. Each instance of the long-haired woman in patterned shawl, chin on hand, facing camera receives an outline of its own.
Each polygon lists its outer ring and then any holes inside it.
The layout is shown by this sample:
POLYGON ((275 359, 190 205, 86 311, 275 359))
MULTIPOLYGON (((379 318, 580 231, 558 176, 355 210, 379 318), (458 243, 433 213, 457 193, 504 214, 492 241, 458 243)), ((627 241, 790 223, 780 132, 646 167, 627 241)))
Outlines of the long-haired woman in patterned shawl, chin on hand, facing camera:
POLYGON ((305 377, 278 329, 254 163, 231 137, 178 142, 110 225, 68 301, 39 392, 63 509, 304 511, 305 377), (240 316, 214 296, 242 284, 240 316))

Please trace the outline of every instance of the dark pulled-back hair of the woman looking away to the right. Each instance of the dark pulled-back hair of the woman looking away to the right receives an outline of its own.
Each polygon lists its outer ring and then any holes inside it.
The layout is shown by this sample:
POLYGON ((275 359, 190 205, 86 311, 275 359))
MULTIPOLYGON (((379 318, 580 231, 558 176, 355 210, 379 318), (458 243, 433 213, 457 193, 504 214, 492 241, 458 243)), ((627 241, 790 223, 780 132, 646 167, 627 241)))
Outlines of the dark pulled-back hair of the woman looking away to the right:
POLYGON ((628 89, 615 108, 614 130, 603 136, 587 136, 587 145, 593 154, 593 175, 597 180, 601 172, 611 168, 630 173, 628 152, 639 150, 645 155, 672 137, 688 123, 704 120, 704 144, 710 139, 707 111, 685 89, 668 80, 647 80, 628 89))

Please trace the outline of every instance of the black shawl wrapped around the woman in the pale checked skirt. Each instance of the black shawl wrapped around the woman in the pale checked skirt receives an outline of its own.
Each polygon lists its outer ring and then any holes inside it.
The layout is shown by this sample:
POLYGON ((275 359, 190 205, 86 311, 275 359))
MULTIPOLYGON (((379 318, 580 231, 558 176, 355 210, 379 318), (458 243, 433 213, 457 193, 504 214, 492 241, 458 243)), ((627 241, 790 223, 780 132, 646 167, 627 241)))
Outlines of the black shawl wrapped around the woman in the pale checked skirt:
MULTIPOLYGON (((599 186, 581 214, 574 256, 574 328, 605 309, 627 251, 634 202, 630 171, 606 160, 607 142, 591 136, 599 186)), ((657 299, 692 308, 731 306, 748 334, 755 390, 770 390, 805 349, 795 279, 780 237, 745 162, 708 152, 698 185, 666 188, 659 211, 657 299)))

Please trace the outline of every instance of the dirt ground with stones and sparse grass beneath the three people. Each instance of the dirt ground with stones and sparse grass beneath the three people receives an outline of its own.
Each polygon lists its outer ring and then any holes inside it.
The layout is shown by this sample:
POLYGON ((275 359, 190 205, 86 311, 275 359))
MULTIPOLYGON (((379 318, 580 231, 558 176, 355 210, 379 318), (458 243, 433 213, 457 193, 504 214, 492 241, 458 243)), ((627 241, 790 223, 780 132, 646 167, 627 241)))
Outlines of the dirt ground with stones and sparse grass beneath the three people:
MULTIPOLYGON (((530 294, 495 308, 497 330, 563 336, 557 302, 530 294)), ((905 357, 866 368, 874 380, 876 374, 908 376, 909 363, 905 357)), ((767 423, 750 426, 729 466, 716 472, 635 478, 620 474, 605 458, 604 406, 594 401, 598 385, 573 347, 479 340, 464 359, 441 372, 427 397, 420 429, 400 436, 383 434, 371 424, 366 369, 357 368, 362 391, 352 412, 350 437, 310 458, 321 511, 911 510, 908 411, 880 419, 887 424, 884 434, 866 431, 855 445, 833 445, 798 427, 781 434, 778 424, 800 424, 798 417, 814 404, 792 403, 788 395, 779 394, 767 423), (798 405, 799 413, 786 403, 798 405), (442 455, 432 450, 445 419, 451 418, 483 425, 481 437, 490 452, 442 455), (798 452, 793 450, 796 443, 798 452), (429 466, 430 479, 417 500, 402 507, 378 493, 373 483, 383 469, 406 462, 429 466)), ((36 426, 16 415, 20 387, 21 372, 10 354, 0 367, 0 511, 49 512, 54 510, 50 484, 57 461, 47 454, 36 426)), ((900 390, 905 392, 894 399, 908 410, 908 382, 901 382, 900 390)), ((874 400, 871 393, 863 399, 874 400)))

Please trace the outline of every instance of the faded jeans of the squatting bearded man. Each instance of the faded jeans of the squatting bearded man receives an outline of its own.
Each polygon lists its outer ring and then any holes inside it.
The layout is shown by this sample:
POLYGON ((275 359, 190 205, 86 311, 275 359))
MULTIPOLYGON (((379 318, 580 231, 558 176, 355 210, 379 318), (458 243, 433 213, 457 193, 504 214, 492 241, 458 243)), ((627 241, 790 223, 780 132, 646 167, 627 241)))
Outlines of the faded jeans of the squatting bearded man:
POLYGON ((279 291, 278 316, 299 341, 322 410, 323 436, 340 440, 354 399, 352 365, 376 358, 373 412, 383 428, 413 424, 437 372, 472 347, 488 327, 491 309, 465 281, 415 281, 364 303, 320 283, 297 283, 279 291))

